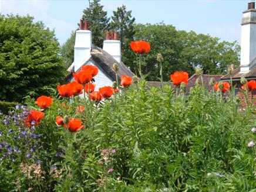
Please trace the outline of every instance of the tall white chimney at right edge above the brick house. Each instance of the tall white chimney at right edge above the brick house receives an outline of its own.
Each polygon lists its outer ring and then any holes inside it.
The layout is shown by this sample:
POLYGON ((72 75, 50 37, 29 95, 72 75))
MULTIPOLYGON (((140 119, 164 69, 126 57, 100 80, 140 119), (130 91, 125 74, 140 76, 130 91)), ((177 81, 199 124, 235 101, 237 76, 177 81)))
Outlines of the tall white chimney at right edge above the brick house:
POLYGON ((240 73, 248 73, 256 63, 256 9, 250 2, 242 13, 240 73))

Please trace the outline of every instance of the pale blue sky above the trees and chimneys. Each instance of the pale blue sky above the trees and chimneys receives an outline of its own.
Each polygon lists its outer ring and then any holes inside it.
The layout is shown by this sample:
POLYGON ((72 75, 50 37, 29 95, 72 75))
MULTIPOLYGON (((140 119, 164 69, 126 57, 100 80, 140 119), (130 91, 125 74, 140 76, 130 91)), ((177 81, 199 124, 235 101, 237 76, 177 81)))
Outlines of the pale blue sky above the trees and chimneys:
MULTIPOLYGON (((93 0, 90 0, 93 1, 93 0)), ((177 30, 193 30, 221 40, 240 43, 242 12, 248 0, 102 0, 108 16, 117 7, 132 10, 136 23, 173 25, 177 30)), ((78 27, 88 0, 0 0, 1 14, 30 15, 55 30, 60 44, 78 27)), ((1 25, 1 23, 0 23, 1 25)))

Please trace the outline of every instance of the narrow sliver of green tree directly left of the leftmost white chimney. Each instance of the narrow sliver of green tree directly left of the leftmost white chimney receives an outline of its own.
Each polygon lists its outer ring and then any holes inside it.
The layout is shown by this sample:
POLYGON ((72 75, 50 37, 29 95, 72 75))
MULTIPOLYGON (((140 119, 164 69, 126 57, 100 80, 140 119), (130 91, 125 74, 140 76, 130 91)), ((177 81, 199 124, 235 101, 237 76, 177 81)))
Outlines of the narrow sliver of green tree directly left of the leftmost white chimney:
POLYGON ((65 62, 65 68, 68 68, 74 61, 74 46, 76 40, 76 33, 72 31, 70 37, 60 47, 60 54, 65 62))

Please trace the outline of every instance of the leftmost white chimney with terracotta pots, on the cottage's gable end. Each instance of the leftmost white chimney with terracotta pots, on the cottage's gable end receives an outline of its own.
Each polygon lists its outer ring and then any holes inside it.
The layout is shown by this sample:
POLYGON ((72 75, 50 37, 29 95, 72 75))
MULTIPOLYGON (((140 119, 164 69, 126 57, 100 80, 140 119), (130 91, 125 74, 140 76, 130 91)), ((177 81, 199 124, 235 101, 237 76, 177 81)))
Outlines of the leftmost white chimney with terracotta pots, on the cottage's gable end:
POLYGON ((81 66, 82 61, 88 60, 91 57, 90 50, 92 49, 92 32, 88 30, 87 20, 80 19, 80 28, 76 30, 76 41, 74 46, 74 62, 72 67, 75 71, 81 66))

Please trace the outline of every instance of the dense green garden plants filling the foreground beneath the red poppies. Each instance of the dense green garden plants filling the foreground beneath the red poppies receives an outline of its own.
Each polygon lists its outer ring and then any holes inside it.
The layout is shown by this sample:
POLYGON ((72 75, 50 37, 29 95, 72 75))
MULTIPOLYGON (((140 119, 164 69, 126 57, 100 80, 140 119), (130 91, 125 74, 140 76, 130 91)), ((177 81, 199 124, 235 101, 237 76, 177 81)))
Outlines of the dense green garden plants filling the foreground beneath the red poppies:
POLYGON ((228 94, 200 85, 187 97, 179 91, 142 80, 100 102, 56 96, 30 128, 23 119, 38 107, 27 97, 28 108, 1 116, 1 189, 255 191, 252 107, 240 112, 228 94), (69 132, 58 115, 85 128, 69 132))

